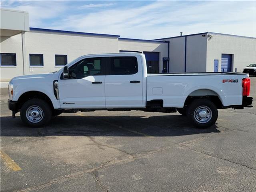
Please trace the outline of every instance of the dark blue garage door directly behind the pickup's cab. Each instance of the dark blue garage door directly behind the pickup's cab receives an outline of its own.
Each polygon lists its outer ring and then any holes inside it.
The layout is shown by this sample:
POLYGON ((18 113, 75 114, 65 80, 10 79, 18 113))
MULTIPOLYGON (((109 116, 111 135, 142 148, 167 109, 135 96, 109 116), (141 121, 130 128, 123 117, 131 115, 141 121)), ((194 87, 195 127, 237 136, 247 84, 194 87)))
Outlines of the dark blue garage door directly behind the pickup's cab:
POLYGON ((148 73, 159 73, 159 52, 143 52, 146 57, 148 73))

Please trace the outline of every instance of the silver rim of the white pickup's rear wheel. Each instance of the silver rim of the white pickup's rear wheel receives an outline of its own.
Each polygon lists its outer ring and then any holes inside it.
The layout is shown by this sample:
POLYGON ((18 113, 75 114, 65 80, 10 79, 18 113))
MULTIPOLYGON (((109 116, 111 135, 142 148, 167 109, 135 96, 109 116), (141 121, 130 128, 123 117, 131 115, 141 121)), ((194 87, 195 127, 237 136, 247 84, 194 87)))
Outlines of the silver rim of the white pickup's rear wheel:
POLYGON ((207 123, 212 118, 212 110, 208 106, 199 106, 194 112, 194 117, 199 123, 207 123))

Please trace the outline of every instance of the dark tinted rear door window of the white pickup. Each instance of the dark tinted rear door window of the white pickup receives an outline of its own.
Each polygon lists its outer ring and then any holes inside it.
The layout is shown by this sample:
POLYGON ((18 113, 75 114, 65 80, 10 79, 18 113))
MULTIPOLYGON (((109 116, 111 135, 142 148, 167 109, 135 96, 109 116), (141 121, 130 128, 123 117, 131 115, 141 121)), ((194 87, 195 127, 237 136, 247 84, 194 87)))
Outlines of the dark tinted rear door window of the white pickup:
POLYGON ((138 72, 138 62, 136 57, 111 57, 111 75, 131 75, 138 72))

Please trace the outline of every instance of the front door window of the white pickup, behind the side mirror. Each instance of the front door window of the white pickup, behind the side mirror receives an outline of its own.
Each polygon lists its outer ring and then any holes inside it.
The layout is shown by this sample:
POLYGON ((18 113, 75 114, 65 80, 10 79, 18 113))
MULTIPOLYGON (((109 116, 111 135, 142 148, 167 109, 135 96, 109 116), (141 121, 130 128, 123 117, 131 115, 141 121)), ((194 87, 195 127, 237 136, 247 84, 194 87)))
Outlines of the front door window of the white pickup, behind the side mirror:
POLYGON ((86 58, 78 61, 69 68, 71 79, 81 79, 86 76, 104 75, 103 63, 105 58, 86 58))

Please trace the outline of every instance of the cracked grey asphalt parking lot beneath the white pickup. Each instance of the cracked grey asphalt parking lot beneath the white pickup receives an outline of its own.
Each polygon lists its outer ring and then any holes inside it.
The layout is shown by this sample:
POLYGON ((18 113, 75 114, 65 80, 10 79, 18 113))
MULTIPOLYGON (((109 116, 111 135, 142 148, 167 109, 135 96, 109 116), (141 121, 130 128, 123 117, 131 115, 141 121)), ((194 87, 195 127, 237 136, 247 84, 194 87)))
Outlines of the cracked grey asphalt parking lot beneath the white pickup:
MULTIPOLYGON (((256 78, 251 94, 256 106, 256 78)), ((44 128, 12 119, 1 90, 1 191, 256 191, 256 108, 219 110, 193 128, 177 113, 61 114, 44 128)))

